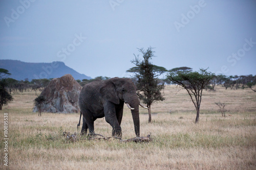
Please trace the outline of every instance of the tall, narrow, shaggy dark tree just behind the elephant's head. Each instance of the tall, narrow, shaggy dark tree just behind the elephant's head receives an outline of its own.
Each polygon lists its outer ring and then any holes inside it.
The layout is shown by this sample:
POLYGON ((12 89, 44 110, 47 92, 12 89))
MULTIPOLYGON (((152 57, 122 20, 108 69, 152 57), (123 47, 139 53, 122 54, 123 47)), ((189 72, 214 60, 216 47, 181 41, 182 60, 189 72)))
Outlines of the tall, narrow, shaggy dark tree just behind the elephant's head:
POLYGON ((163 101, 161 90, 164 89, 164 83, 160 83, 157 78, 163 72, 167 71, 164 67, 153 65, 150 60, 154 57, 152 47, 143 50, 138 48, 139 52, 143 55, 143 60, 139 59, 139 55, 135 55, 135 59, 131 62, 136 66, 127 70, 127 72, 134 72, 137 82, 137 94, 139 99, 148 107, 148 123, 151 123, 151 105, 155 101, 163 101))

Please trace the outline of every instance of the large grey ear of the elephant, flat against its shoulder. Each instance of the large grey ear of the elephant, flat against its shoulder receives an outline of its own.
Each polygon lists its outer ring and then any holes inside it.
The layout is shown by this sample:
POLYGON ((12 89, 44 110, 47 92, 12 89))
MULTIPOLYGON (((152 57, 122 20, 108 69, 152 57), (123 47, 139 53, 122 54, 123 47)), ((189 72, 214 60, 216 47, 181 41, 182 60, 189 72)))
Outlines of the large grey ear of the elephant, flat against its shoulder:
POLYGON ((119 98, 113 81, 105 80, 100 88, 100 93, 103 96, 104 100, 110 101, 117 105, 119 104, 119 98))

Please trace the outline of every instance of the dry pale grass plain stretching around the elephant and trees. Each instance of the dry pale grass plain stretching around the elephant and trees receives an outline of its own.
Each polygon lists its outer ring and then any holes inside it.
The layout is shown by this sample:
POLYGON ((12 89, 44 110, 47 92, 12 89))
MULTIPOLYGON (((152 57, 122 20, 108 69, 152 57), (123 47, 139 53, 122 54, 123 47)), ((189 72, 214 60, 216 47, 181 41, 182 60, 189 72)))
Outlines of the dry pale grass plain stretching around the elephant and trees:
MULTIPOLYGON (((152 141, 67 141, 79 133, 79 113, 33 113, 34 92, 13 93, 0 111, 0 169, 256 169, 256 93, 250 89, 203 91, 199 123, 187 92, 164 89, 165 100, 152 106, 152 123, 140 108, 140 134, 152 141), (226 117, 216 102, 225 103, 226 117), (4 165, 4 113, 8 113, 8 166, 4 165)), ((37 92, 37 94, 39 91, 37 92)), ((80 126, 81 127, 81 126, 80 126)), ((124 108, 122 138, 135 137, 131 111, 124 108)), ((95 133, 110 137, 104 118, 95 133)), ((78 135, 79 136, 79 135, 78 135)))

